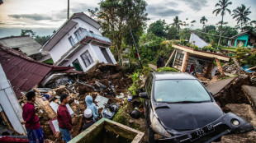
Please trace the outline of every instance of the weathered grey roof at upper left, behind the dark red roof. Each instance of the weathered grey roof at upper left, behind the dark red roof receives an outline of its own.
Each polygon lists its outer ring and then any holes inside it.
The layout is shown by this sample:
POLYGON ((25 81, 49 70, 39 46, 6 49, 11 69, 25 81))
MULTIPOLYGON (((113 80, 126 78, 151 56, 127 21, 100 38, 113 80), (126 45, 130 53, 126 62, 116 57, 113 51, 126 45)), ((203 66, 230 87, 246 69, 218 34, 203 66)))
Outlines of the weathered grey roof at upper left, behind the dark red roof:
POLYGON ((25 36, 12 36, 0 39, 0 44, 9 48, 19 48, 22 53, 31 56, 40 53, 41 45, 32 39, 29 35, 25 36))

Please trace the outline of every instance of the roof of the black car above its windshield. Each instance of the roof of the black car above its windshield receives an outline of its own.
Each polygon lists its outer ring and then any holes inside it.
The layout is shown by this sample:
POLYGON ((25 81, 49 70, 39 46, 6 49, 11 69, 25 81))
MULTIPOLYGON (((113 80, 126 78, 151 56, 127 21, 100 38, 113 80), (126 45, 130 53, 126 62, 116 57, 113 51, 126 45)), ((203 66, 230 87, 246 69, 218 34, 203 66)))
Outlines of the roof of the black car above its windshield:
POLYGON ((164 72, 153 72, 152 75, 154 76, 155 80, 195 80, 196 77, 192 76, 188 73, 183 72, 173 72, 173 71, 164 71, 164 72))

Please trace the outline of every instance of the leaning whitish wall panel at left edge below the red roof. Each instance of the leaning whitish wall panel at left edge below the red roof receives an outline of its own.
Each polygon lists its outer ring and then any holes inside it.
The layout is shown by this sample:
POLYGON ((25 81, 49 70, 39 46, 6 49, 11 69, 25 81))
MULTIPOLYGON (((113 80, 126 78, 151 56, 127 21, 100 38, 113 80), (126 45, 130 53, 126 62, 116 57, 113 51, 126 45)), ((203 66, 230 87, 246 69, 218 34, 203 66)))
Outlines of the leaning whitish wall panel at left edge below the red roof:
POLYGON ((0 64, 0 104, 14 130, 21 134, 26 134, 25 127, 21 125, 22 109, 17 101, 17 96, 12 90, 11 83, 7 80, 0 64))

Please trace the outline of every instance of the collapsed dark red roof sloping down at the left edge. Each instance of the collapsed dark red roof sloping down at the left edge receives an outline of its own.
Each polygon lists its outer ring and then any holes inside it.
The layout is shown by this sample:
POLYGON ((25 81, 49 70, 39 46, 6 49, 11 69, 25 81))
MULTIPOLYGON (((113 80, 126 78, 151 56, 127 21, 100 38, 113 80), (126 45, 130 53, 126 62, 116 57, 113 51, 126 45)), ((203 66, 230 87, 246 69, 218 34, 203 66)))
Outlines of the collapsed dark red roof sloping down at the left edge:
POLYGON ((40 84, 50 71, 67 71, 73 67, 52 66, 27 57, 12 48, 0 44, 0 63, 5 71, 7 79, 17 95, 22 91, 29 91, 35 85, 40 84))

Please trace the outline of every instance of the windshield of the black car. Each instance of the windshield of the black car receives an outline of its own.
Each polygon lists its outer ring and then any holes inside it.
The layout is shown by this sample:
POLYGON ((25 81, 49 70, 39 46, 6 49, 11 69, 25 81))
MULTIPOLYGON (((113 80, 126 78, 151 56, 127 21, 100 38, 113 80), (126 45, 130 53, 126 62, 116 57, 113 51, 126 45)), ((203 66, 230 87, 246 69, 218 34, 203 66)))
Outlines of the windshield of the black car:
POLYGON ((203 102, 210 101, 206 89, 197 80, 155 81, 154 99, 157 102, 203 102))

